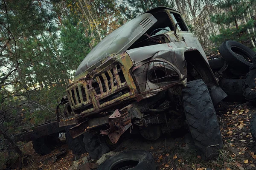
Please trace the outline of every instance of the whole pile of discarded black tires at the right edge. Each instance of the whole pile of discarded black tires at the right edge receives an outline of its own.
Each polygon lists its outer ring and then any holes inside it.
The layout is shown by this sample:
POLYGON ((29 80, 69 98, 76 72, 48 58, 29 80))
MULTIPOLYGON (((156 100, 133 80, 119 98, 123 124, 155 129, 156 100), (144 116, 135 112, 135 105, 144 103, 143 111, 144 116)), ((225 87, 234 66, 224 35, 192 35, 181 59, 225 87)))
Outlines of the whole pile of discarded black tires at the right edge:
POLYGON ((256 100, 256 53, 236 41, 225 41, 219 47, 221 57, 209 60, 219 85, 227 93, 227 102, 256 100))

